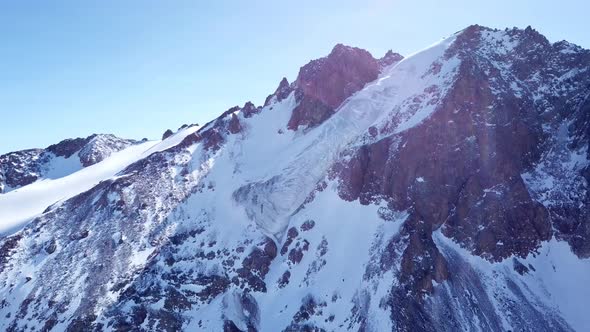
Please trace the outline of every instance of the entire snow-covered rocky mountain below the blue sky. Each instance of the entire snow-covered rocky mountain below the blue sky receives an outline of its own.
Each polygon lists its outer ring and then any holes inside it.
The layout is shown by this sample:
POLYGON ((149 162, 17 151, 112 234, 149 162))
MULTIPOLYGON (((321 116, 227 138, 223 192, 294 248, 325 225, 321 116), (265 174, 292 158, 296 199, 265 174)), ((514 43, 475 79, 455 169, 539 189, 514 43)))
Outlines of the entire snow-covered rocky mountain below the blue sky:
POLYGON ((0 156, 0 330, 587 331, 589 142, 590 51, 531 27, 338 44, 161 141, 0 156))

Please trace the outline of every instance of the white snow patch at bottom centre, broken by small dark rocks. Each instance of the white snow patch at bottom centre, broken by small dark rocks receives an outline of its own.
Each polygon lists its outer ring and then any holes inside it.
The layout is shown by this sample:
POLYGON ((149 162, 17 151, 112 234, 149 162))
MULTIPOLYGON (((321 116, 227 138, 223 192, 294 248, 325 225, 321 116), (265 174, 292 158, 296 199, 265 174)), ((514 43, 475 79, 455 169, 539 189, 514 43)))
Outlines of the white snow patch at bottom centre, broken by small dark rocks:
MULTIPOLYGON (((383 204, 385 205, 385 204, 383 204)), ((328 184, 328 188, 319 192, 316 198, 305 206, 291 219, 292 224, 298 225, 305 220, 312 219, 315 226, 305 233, 309 241, 309 251, 305 253, 301 262, 290 266, 291 277, 285 288, 277 286, 277 280, 289 268, 286 256, 275 259, 265 278, 268 294, 260 294, 257 301, 260 306, 261 331, 282 331, 293 315, 299 310, 301 303, 293 299, 303 299, 312 294, 316 301, 325 301, 324 314, 318 319, 317 325, 329 331, 341 329, 354 305, 353 299, 359 289, 368 287, 363 276, 367 263, 371 257, 372 245, 376 238, 383 236, 390 239, 399 232, 407 214, 401 213, 396 220, 384 221, 378 216, 381 205, 361 205, 358 201, 347 202, 337 193, 336 183, 328 184), (327 241, 328 251, 321 257, 325 260, 319 271, 310 274, 310 266, 318 259, 316 248, 327 241), (355 247, 350 250, 351 245, 355 247), (269 296, 273 294, 272 296, 269 296), (332 301, 333 296, 338 299, 332 301), (325 319, 334 315, 333 322, 325 319)), ((280 248, 280 247, 279 247, 280 248)), ((379 308, 379 303, 388 294, 393 275, 386 274, 381 285, 371 294, 370 318, 372 326, 376 328, 391 327, 391 320, 387 310, 379 308)))

